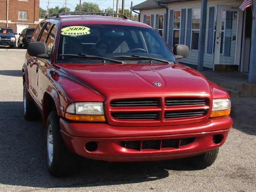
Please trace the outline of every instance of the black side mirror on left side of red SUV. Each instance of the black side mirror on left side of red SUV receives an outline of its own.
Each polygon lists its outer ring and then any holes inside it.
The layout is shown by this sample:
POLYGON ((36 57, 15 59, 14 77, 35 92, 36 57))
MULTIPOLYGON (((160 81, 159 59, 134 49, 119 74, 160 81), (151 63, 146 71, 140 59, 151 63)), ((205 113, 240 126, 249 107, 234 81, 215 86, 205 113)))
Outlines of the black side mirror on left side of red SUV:
POLYGON ((47 54, 48 48, 45 42, 32 42, 28 44, 28 54, 30 56, 50 59, 50 56, 47 54))

